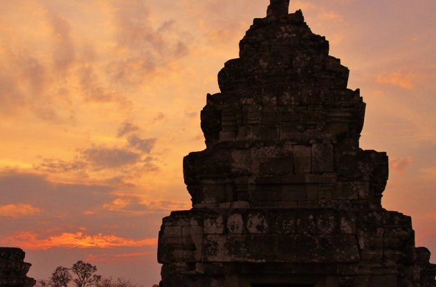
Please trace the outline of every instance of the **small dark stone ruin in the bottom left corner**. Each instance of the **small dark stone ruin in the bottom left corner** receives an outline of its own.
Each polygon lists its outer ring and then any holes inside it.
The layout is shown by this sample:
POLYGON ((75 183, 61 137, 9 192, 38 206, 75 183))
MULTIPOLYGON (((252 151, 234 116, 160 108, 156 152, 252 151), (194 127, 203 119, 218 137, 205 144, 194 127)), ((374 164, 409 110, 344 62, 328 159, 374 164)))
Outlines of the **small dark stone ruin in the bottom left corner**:
POLYGON ((35 279, 27 277, 32 264, 24 262, 24 252, 19 248, 0 247, 0 286, 32 287, 35 279))

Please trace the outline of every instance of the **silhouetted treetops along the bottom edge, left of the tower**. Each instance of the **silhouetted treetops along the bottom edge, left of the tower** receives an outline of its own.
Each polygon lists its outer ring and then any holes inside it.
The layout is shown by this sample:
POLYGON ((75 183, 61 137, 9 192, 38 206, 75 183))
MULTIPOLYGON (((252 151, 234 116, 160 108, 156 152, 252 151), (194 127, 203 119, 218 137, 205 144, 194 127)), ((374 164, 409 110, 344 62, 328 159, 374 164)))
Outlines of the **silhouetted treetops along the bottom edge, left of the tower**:
POLYGON ((104 278, 96 272, 97 266, 80 260, 71 268, 58 266, 49 279, 38 280, 35 287, 143 287, 123 277, 104 278))

